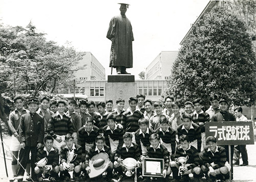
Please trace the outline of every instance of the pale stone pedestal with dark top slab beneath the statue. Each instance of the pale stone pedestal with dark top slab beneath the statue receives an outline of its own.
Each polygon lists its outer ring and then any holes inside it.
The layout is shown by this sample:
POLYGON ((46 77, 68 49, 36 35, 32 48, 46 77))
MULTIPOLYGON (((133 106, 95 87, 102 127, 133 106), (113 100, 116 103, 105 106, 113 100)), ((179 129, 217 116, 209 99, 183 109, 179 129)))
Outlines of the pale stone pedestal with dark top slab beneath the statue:
POLYGON ((105 99, 112 99, 115 103, 118 98, 125 100, 124 109, 129 107, 128 99, 137 95, 137 83, 134 82, 134 75, 120 74, 109 75, 108 83, 105 85, 105 99))

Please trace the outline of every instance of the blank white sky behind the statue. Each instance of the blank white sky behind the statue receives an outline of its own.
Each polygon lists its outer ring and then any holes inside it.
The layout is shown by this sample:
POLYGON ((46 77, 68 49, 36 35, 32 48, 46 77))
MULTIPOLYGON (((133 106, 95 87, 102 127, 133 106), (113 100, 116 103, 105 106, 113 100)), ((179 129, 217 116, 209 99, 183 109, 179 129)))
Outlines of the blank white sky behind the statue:
MULTIPOLYGON (((30 21, 47 40, 70 42, 76 51, 90 51, 109 67, 111 41, 106 38, 110 20, 120 13, 117 3, 130 4, 126 17, 133 27, 133 68, 138 74, 161 51, 178 51, 180 42, 209 1, 206 0, 0 0, 0 23, 26 27, 30 21)), ((114 71, 114 74, 116 72, 114 71)))

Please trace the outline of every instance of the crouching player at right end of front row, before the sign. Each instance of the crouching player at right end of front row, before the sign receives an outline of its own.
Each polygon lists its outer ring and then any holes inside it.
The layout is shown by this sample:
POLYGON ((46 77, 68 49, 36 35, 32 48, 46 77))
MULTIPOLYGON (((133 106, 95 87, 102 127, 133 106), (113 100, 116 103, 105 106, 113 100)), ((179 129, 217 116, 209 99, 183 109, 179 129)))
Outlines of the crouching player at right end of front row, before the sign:
POLYGON ((203 151, 203 165, 202 171, 205 173, 206 178, 211 179, 229 179, 229 171, 231 166, 226 159, 226 150, 221 146, 217 146, 215 137, 209 136, 206 139, 206 147, 203 151))

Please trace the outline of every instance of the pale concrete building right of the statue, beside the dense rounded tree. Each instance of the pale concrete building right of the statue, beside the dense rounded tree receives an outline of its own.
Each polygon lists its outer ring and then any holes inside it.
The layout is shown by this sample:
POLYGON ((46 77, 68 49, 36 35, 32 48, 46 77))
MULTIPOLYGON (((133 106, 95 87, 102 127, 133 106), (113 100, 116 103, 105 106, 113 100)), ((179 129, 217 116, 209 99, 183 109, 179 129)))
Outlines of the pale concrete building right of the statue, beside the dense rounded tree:
POLYGON ((145 80, 166 80, 179 51, 161 51, 146 67, 145 80))

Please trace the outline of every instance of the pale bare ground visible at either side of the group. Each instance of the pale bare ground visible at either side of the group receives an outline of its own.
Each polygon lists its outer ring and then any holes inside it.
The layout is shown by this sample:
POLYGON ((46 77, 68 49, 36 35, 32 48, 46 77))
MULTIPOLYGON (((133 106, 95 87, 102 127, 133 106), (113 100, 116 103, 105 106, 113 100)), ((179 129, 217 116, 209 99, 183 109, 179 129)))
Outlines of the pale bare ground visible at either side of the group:
MULTIPOLYGON (((7 170, 8 170, 8 175, 12 176, 12 169, 11 169, 11 153, 8 149, 8 145, 11 142, 11 138, 4 136, 4 148, 6 151, 6 162, 7 162, 7 170)), ((254 129, 254 141, 256 141, 256 129, 254 129)), ((234 170, 234 180, 236 182, 244 182, 244 181, 255 181, 256 182, 256 145, 247 145, 246 146, 247 151, 248 151, 248 161, 249 165, 244 166, 244 167, 233 167, 234 170)), ((6 175, 6 170, 5 170, 5 163, 3 159, 3 150, 2 150, 2 144, 0 147, 0 182, 4 181, 9 181, 8 177, 6 175)), ((240 164, 242 164, 242 159, 240 159, 240 164)), ((124 181, 133 181, 132 179, 126 179, 124 181)))

